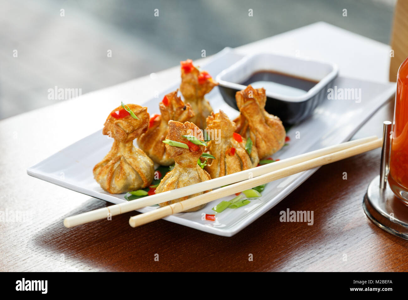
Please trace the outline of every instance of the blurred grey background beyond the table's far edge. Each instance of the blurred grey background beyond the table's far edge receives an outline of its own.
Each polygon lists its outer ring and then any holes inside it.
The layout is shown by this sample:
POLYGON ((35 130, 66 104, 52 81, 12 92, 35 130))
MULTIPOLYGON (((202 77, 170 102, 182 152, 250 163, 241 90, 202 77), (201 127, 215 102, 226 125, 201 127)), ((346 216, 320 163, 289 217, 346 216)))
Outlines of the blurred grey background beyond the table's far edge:
POLYGON ((84 94, 201 58, 202 49, 210 56, 317 21, 388 44, 394 5, 395 0, 2 0, 0 119, 62 101, 48 99, 55 86, 84 94))

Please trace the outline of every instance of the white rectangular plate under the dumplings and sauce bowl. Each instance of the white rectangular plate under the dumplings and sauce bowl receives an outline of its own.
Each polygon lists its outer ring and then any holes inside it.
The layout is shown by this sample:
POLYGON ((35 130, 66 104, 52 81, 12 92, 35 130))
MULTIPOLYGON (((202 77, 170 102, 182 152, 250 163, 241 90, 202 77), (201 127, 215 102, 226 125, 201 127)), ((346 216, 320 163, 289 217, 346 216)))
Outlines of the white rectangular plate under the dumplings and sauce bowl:
MULTIPOLYGON (((205 69, 215 77, 223 69, 237 62, 242 57, 242 55, 235 51, 226 48, 203 65, 202 69, 205 69)), ((341 77, 337 78, 333 85, 337 86, 337 90, 340 88, 361 89, 361 101, 325 100, 324 103, 315 110, 311 118, 292 127, 288 131, 287 134, 290 138, 289 145, 283 147, 278 153, 275 153, 273 156, 274 159, 289 158, 349 140, 357 129, 359 129, 395 91, 395 85, 392 83, 383 84, 341 77), (297 133, 299 138, 296 138, 297 133)), ((158 98, 153 98, 143 105, 148 108, 151 115, 160 113, 158 107, 160 100, 166 93, 174 91, 178 87, 179 84, 176 84, 162 91, 158 98)), ((238 115, 238 111, 235 111, 235 109, 232 109, 224 102, 218 88, 211 91, 206 98, 211 103, 214 111, 217 112, 219 109, 222 109, 231 119, 238 115)), ((279 112, 276 112, 276 114, 279 116, 279 112)), ((381 124, 378 126, 381 126, 381 124)), ((31 176, 95 198, 116 204, 125 202, 124 194, 109 194, 102 190, 99 184, 93 179, 93 166, 108 153, 112 143, 113 140, 103 136, 102 130, 100 130, 62 149, 33 167, 30 167, 27 169, 27 173, 31 176), (60 178, 61 170, 64 170, 64 179, 60 178)), ((238 209, 226 209, 222 213, 216 213, 215 221, 202 220, 202 214, 213 214, 214 211, 211 210, 212 207, 221 200, 230 200, 235 195, 210 202, 199 211, 177 213, 165 218, 165 220, 220 236, 233 236, 274 207, 316 170, 317 168, 268 183, 259 200, 251 200, 250 204, 238 209)), ((147 212, 152 209, 156 209, 156 207, 146 207, 138 211, 147 212)))

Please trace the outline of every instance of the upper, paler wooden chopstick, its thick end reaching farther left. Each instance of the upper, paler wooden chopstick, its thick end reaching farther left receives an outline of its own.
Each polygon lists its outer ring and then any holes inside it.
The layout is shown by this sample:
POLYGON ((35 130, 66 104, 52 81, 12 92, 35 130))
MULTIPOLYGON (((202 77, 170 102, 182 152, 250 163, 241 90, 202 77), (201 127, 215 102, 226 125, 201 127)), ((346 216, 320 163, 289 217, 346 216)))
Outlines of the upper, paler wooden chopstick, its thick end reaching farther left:
MULTIPOLYGON (((304 154, 294 156, 291 158, 287 158, 284 160, 279 160, 271 164, 265 164, 263 166, 256 167, 253 169, 240 171, 240 172, 233 173, 230 175, 226 175, 226 176, 222 176, 219 178, 214 178, 211 180, 200 182, 197 184, 189 185, 187 187, 182 187, 180 189, 175 189, 173 191, 166 191, 163 193, 158 193, 156 195, 152 195, 152 196, 148 196, 148 197, 144 197, 144 198, 140 198, 136 200, 131 200, 128 202, 114 204, 109 207, 103 207, 100 209, 95 209, 93 211, 87 211, 86 213, 80 213, 78 215, 65 218, 64 226, 67 228, 70 228, 70 227, 74 227, 80 224, 85 224, 85 223, 96 221, 96 220, 106 219, 108 214, 110 216, 116 216, 121 213, 126 213, 129 211, 140 209, 142 207, 159 204, 159 203, 166 202, 169 200, 189 196, 195 193, 200 193, 202 191, 208 191, 210 189, 215 189, 217 187, 222 187, 227 184, 233 184, 235 182, 247 180, 248 178, 257 177, 265 173, 270 173, 272 171, 283 169, 283 168, 292 166, 294 164, 299 164, 301 162, 305 162, 313 158, 318 158, 320 156, 324 156, 330 153, 348 149, 350 147, 354 147, 357 145, 365 144, 367 142, 377 140, 377 139, 378 138, 376 136, 371 136, 368 138, 361 138, 359 140, 344 142, 341 144, 337 144, 334 146, 311 151, 311 152, 304 153, 304 154)), ((206 193, 206 195, 208 195, 208 193, 206 193)))

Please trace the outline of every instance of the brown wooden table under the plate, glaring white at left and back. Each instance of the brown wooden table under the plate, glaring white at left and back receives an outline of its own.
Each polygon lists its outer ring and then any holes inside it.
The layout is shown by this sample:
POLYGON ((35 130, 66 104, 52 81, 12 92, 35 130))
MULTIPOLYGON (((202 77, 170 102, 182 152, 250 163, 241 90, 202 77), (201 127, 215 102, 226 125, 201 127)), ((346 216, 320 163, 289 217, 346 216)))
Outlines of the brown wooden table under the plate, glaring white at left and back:
MULTIPOLYGON (((239 48, 262 50, 335 61, 344 76, 388 78, 387 45, 326 23, 239 48)), ((0 222, 0 271, 408 270, 408 242, 377 228, 361 207, 368 183, 379 173, 379 149, 322 167, 231 238, 164 220, 132 229, 134 213, 66 229, 66 216, 107 203, 31 178, 26 168, 100 129, 100 115, 118 99, 143 102, 174 83, 178 72, 175 67, 154 79, 146 76, 0 122, 0 211, 32 213, 31 222, 0 222), (313 226, 279 222, 287 208, 313 210, 313 226)), ((354 138, 381 136, 381 123, 392 114, 390 102, 354 138)))

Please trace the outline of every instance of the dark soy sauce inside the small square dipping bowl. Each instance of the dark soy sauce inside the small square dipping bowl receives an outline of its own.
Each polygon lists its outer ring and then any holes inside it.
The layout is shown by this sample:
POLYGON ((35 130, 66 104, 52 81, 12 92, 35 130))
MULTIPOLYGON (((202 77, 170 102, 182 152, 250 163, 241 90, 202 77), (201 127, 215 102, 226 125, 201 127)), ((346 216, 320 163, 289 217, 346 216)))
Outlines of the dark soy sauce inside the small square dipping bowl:
POLYGON ((262 70, 253 73, 243 85, 251 84, 255 89, 263 87, 266 91, 284 96, 302 96, 318 81, 296 77, 275 71, 262 70))

